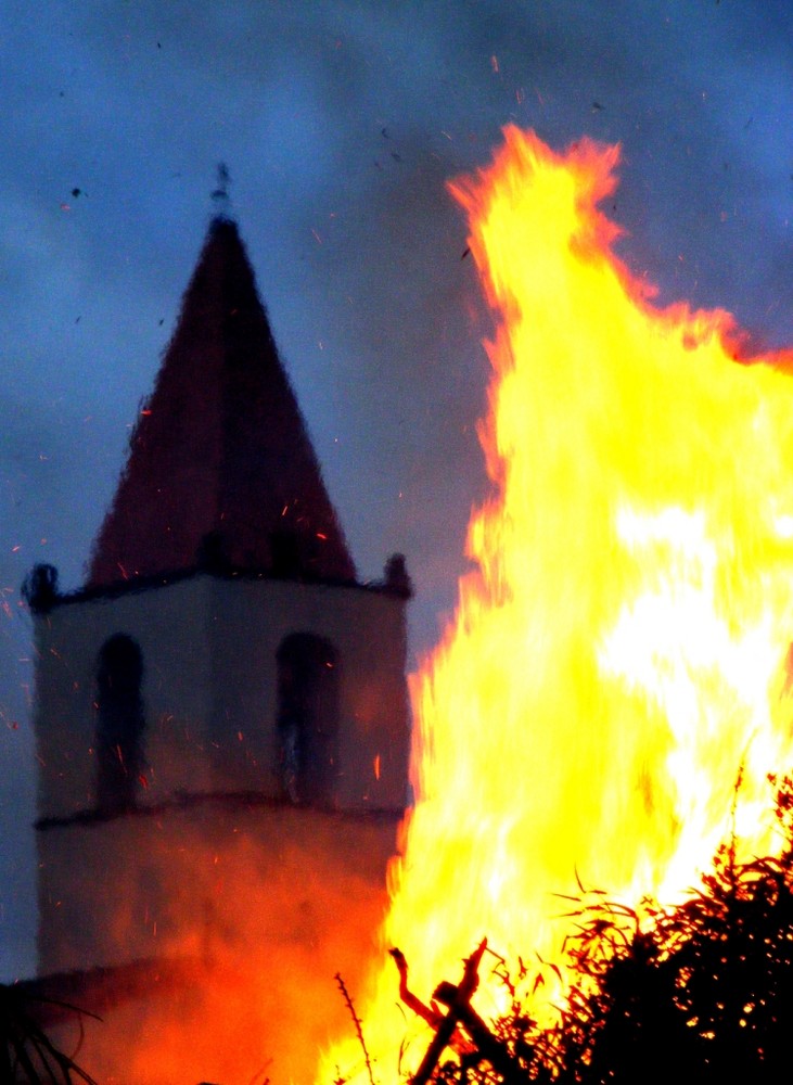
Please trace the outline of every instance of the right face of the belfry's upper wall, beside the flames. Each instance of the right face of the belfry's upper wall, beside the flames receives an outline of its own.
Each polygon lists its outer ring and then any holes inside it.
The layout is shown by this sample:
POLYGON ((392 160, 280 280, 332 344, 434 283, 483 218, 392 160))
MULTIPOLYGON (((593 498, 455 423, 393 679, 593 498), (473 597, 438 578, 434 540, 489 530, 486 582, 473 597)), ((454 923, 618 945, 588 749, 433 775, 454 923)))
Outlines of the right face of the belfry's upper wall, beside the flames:
POLYGON ((219 788, 280 793, 276 659, 286 637, 310 633, 337 653, 338 746, 330 805, 404 809, 404 599, 322 584, 215 579, 207 584, 207 616, 215 668, 208 738, 219 788))

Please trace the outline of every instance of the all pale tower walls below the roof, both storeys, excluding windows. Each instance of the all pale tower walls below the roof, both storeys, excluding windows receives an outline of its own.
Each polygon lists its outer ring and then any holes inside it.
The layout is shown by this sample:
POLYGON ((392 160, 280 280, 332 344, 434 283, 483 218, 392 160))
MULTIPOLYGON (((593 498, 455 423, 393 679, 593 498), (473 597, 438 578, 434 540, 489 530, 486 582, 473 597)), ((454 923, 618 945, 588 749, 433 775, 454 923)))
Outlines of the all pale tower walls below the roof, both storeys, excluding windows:
MULTIPOLYGON (((297 894, 310 897, 318 870, 335 866, 344 881, 357 856, 378 871, 366 892, 380 896, 406 802, 404 599, 196 574, 115 598, 66 599, 37 618, 36 631, 41 973, 128 963, 177 945, 192 953, 223 923, 236 929, 234 893, 220 901, 208 886, 216 856, 241 847, 255 856, 259 892, 281 877, 287 851, 303 856, 297 894), (98 660, 119 634, 140 649, 144 719, 141 781, 121 812, 99 804, 97 736, 98 660), (278 652, 293 634, 331 644, 338 672, 322 810, 295 807, 281 773, 278 652)), ((244 881, 235 892, 244 899, 244 881)), ((271 904, 277 914, 268 919, 265 909, 263 922, 276 930, 282 903, 271 904)), ((287 929, 281 934, 289 940, 287 929)))

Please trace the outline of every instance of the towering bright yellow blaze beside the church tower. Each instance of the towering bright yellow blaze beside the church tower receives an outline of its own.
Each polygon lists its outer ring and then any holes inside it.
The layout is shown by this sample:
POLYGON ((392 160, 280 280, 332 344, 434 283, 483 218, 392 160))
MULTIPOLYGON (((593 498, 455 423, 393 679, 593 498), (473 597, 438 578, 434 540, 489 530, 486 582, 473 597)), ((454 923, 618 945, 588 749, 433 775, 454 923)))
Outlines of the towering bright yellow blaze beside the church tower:
MULTIPOLYGON (((772 847, 766 776, 793 764, 793 353, 739 361, 729 314, 651 304, 598 209, 618 159, 508 128, 451 186, 498 320, 495 496, 412 684, 418 803, 384 943, 425 999, 483 934, 559 959, 555 894, 578 878, 679 897, 731 816, 772 847)), ((393 1047, 391 966, 376 988, 364 1026, 393 1047)))

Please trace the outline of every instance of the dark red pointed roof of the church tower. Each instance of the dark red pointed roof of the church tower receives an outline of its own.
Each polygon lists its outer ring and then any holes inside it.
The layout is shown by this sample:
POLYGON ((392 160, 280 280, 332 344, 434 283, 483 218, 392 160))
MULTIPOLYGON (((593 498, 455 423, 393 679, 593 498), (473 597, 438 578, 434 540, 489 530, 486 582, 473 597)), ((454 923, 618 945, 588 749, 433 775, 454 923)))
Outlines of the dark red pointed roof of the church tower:
POLYGON ((199 564, 354 580, 236 224, 213 220, 88 587, 199 564))

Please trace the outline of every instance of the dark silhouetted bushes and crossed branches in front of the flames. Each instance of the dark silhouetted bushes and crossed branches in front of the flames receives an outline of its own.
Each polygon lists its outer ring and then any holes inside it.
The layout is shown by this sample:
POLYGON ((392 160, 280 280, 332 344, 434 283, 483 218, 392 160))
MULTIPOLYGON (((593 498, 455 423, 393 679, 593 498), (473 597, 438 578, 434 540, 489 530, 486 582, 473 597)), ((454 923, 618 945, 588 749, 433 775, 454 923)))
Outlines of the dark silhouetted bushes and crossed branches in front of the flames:
POLYGON ((780 854, 739 861, 732 837, 701 886, 676 906, 645 898, 631 908, 581 888, 566 916, 572 932, 562 961, 571 986, 550 1026, 538 1024, 532 1006, 548 976, 554 986, 561 979, 555 963, 519 958, 513 973, 482 942, 461 982, 439 984, 427 1006, 408 987, 404 955, 392 950, 401 999, 433 1033, 407 1075, 412 1085, 782 1080, 793 997, 790 778, 780 783, 776 816, 780 854), (509 997, 507 1012, 489 1023, 471 1005, 479 971, 509 997))

